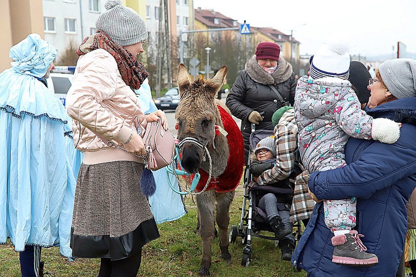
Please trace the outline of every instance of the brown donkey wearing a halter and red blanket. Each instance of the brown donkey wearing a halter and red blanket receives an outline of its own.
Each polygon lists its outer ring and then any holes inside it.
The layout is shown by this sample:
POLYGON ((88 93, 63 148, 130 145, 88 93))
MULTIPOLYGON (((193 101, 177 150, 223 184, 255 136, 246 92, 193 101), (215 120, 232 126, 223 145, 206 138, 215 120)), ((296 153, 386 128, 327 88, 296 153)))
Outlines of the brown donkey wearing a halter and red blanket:
POLYGON ((229 109, 219 101, 217 93, 221 88, 228 68, 223 66, 212 78, 198 79, 191 83, 184 64, 179 64, 178 86, 180 102, 176 108, 178 139, 181 146, 182 166, 189 173, 201 174, 196 191, 202 191, 208 179, 209 159, 205 158, 206 146, 212 158, 211 181, 205 192, 196 196, 199 233, 202 239, 202 261, 199 276, 208 276, 211 265, 211 241, 215 232, 215 201, 217 202, 216 222, 219 229, 221 258, 231 263, 229 254, 229 205, 234 198, 244 165, 244 142, 229 109), (222 132, 225 129, 227 133, 222 132), (221 132, 220 132, 221 131, 221 132), (199 143, 194 143, 196 140, 199 143))

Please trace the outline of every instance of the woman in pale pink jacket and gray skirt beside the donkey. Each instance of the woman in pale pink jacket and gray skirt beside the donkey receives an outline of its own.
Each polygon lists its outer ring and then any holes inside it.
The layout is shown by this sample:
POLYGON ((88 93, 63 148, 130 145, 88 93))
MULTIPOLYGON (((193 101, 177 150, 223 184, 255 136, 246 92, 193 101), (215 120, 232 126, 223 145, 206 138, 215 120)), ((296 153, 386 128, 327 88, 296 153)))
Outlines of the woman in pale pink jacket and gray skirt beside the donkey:
POLYGON ((97 33, 77 51, 80 58, 66 98, 75 147, 84 153, 71 248, 74 257, 101 258, 99 277, 133 277, 142 247, 159 237, 141 191, 142 137, 147 122, 160 119, 167 129, 167 121, 162 111, 144 115, 134 93, 148 75, 136 60, 147 39, 145 21, 121 0, 107 0, 105 7, 97 33))

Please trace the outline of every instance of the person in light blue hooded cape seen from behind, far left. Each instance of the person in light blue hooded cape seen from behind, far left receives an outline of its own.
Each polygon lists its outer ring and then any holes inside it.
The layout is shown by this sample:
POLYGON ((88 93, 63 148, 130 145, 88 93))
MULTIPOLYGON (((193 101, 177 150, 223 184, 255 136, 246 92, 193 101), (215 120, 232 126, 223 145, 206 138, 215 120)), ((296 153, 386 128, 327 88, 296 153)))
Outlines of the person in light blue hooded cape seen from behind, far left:
POLYGON ((41 81, 57 54, 30 34, 10 49, 12 67, 0 74, 0 243, 10 237, 23 277, 43 276, 42 247, 59 244, 72 256, 72 121, 41 81))

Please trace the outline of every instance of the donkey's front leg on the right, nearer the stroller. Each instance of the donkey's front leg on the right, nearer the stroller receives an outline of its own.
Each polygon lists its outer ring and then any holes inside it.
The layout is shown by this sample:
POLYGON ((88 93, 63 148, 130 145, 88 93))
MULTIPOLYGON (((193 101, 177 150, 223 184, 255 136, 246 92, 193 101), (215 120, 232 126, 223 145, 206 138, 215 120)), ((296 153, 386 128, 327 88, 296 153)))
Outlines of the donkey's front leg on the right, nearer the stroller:
POLYGON ((217 194, 217 224, 219 234, 220 234, 220 249, 221 249, 221 258, 227 263, 231 263, 231 255, 228 251, 229 246, 229 205, 234 199, 234 191, 227 193, 218 193, 217 194))

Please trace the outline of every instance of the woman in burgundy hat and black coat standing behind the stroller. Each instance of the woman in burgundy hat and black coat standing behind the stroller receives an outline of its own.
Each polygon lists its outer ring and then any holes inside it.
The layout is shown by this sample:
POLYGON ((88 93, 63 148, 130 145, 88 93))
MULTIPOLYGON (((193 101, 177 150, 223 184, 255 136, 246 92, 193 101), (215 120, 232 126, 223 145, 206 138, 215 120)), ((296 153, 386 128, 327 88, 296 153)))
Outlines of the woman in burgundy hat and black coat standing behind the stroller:
POLYGON ((241 119, 246 163, 251 123, 257 125, 256 129, 273 130, 273 113, 282 106, 293 105, 295 88, 292 66, 280 57, 279 44, 260 42, 246 69, 235 79, 226 100, 231 113, 241 119))

